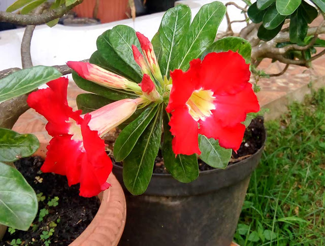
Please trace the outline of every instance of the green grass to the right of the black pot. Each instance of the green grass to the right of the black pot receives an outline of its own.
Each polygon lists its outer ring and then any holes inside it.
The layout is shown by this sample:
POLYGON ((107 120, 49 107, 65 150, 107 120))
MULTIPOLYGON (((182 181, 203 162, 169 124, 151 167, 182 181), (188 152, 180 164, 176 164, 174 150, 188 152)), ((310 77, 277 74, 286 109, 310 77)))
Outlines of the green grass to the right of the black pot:
POLYGON ((266 122, 235 234, 241 246, 325 245, 325 91, 266 122))

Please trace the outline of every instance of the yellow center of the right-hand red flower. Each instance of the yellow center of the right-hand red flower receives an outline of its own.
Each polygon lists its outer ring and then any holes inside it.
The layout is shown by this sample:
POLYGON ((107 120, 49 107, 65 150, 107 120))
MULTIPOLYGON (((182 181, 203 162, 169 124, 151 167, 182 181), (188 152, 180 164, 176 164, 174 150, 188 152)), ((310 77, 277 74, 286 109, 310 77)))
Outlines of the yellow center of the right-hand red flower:
POLYGON ((212 115, 211 110, 215 110, 213 104, 213 92, 211 90, 194 90, 186 102, 188 113, 196 121, 205 119, 212 115))

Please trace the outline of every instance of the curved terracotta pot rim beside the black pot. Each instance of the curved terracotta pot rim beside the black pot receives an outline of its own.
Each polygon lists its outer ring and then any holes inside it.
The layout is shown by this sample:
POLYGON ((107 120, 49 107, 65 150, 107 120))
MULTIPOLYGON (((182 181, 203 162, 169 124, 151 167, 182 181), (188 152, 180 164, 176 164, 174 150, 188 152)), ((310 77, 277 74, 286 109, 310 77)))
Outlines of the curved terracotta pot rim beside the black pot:
POLYGON ((70 246, 116 246, 121 238, 125 219, 126 201, 121 185, 113 173, 108 177, 112 185, 99 195, 101 206, 80 236, 70 246))

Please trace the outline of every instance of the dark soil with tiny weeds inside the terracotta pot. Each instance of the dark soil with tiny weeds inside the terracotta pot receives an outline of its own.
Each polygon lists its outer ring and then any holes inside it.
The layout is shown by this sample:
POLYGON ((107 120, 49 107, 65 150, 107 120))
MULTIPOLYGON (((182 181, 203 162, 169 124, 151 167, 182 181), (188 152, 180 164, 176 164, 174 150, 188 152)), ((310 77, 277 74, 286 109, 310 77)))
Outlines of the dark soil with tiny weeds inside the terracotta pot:
MULTIPOLYGON (((42 173, 43 160, 39 157, 23 158, 15 162, 17 169, 25 177, 36 194, 43 193, 45 199, 39 202, 40 209, 48 209, 49 214, 39 222, 39 213, 28 231, 16 230, 10 235, 7 231, 0 245, 10 245, 12 239, 20 238, 21 245, 68 245, 76 239, 90 224, 96 215, 100 202, 97 197, 79 196, 79 185, 69 187, 67 178, 53 173, 42 173), (49 206, 48 201, 58 197, 56 206, 49 206), (55 224, 56 226, 55 226, 55 224), (42 240, 43 231, 54 229, 53 235, 42 240)), ((44 197, 43 197, 44 198, 44 197)), ((42 199, 43 199, 42 198, 42 199)), ((54 204, 55 205, 55 204, 54 204)))

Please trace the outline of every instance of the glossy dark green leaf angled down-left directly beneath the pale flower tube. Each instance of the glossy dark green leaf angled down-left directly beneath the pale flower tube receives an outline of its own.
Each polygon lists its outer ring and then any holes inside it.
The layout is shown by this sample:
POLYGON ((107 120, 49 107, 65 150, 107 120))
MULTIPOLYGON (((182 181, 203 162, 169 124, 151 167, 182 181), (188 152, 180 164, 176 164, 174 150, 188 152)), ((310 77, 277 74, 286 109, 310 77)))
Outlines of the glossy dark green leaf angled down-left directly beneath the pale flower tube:
POLYGON ((158 106, 148 107, 137 119, 128 124, 119 134, 114 145, 114 159, 122 161, 135 147, 141 134, 158 111, 158 106))

